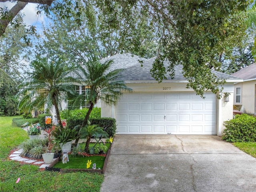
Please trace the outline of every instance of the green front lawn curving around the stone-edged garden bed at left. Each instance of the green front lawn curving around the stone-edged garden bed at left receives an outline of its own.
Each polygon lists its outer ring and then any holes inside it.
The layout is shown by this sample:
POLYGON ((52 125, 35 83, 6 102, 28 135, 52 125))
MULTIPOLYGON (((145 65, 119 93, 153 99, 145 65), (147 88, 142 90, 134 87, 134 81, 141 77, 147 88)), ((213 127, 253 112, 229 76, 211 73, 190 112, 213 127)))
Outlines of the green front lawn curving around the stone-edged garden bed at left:
POLYGON ((1 192, 98 192, 102 174, 76 172, 59 174, 40 171, 38 166, 9 160, 10 151, 28 138, 26 131, 12 126, 13 117, 0 117, 0 191, 1 192), (16 183, 20 178, 20 182, 16 183))

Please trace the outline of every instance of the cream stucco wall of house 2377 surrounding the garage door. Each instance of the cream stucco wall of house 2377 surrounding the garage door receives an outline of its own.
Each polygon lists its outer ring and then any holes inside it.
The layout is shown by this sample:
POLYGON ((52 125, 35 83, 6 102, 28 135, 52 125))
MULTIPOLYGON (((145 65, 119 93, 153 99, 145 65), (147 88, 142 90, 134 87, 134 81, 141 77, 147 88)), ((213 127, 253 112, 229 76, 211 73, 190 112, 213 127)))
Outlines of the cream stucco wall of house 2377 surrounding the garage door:
MULTIPOLYGON (((193 91, 192 89, 186 88, 186 83, 134 83, 127 84, 129 88, 132 88, 134 92, 163 92, 163 87, 170 87, 170 92, 182 92, 182 91, 193 91)), ((225 98, 222 97, 220 100, 216 98, 216 134, 222 135, 224 130, 223 122, 233 118, 233 94, 234 94, 234 83, 229 82, 223 86, 223 92, 230 93, 229 102, 225 102, 225 98)), ((101 105, 101 116, 115 118, 114 106, 107 106, 102 102, 101 105)))

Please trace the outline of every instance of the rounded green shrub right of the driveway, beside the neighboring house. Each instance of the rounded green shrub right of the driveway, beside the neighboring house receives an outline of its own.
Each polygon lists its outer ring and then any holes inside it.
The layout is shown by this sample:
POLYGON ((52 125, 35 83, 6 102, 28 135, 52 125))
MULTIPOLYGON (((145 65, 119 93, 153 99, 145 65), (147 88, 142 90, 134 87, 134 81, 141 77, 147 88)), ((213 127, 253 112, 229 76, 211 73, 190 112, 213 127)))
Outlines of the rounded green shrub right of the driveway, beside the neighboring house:
POLYGON ((241 114, 225 121, 222 139, 227 142, 256 142, 256 117, 241 114))

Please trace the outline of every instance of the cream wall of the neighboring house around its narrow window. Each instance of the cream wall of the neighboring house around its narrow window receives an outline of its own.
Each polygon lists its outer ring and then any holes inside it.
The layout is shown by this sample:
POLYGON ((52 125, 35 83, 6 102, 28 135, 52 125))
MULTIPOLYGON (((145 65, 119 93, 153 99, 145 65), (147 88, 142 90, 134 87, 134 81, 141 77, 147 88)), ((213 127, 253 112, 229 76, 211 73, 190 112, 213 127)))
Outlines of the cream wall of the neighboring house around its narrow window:
POLYGON ((256 80, 234 84, 234 105, 243 113, 256 113, 256 80), (241 102, 236 102, 236 88, 241 88, 241 102))

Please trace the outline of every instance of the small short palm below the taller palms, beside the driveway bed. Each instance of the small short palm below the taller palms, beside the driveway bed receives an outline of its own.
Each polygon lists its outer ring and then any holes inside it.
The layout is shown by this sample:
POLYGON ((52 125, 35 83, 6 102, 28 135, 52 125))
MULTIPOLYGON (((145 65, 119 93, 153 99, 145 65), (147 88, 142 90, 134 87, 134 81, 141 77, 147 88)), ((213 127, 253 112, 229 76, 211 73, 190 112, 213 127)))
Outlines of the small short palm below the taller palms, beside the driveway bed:
POLYGON ((98 136, 101 135, 102 137, 107 137, 108 133, 103 130, 102 127, 99 127, 98 125, 90 125, 90 123, 84 127, 82 127, 79 130, 79 135, 80 138, 85 138, 86 139, 86 144, 84 150, 86 152, 89 151, 89 144, 90 144, 90 139, 92 136, 98 136))

